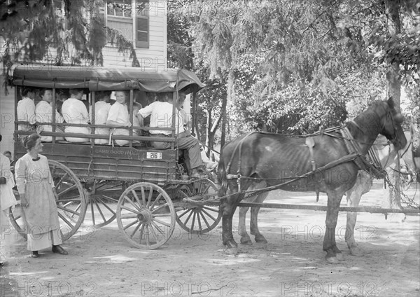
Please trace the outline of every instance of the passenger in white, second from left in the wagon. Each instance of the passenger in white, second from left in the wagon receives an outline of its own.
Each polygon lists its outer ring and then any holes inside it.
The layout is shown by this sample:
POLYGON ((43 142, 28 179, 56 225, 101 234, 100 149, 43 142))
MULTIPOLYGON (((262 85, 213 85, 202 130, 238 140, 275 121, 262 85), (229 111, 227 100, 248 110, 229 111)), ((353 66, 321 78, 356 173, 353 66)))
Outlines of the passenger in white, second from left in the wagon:
MULTIPOLYGON (((52 90, 48 89, 42 89, 39 92, 39 95, 41 96, 41 101, 36 104, 35 107, 35 113, 36 113, 36 119, 38 122, 41 123, 52 123, 52 90)), ((61 114, 58 113, 58 111, 55 111, 55 123, 62 124, 63 123, 63 117, 61 114)), ((41 141, 45 142, 51 142, 52 136, 43 136, 42 131, 45 132, 52 132, 52 126, 51 125, 41 125, 41 141)), ((55 132, 64 132, 60 127, 55 126, 55 132)), ((56 137, 56 140, 62 140, 63 137, 56 137)))

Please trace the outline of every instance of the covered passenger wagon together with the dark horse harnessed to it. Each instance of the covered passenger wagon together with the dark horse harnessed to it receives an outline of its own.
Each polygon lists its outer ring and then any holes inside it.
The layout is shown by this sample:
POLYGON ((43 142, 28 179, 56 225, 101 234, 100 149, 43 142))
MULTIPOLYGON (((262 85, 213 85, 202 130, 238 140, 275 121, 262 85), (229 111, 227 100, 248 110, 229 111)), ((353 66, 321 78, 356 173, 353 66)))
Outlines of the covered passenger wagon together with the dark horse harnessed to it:
MULTIPOLYGON (((146 71, 141 68, 45 66, 34 69, 18 67, 13 75, 13 84, 17 87, 16 104, 19 99, 18 89, 22 87, 48 88, 52 90, 52 97, 55 97, 58 90, 83 88, 85 102, 92 106, 92 114, 94 114, 94 103, 97 102, 97 92, 130 91, 130 102, 127 106, 131 123, 134 123, 134 105, 150 103, 147 94, 171 92, 172 101, 176 102, 173 104, 172 113, 175 114, 179 108, 177 106, 179 92, 192 94, 195 102, 195 93, 204 87, 195 74, 184 70, 146 71)), ((55 109, 54 101, 52 108, 55 109)), ((193 109, 193 116, 194 113, 193 109)), ((153 127, 144 125, 125 127, 129 130, 128 135, 95 134, 95 129, 105 126, 97 125, 94 116, 88 124, 92 128, 90 134, 57 132, 59 124, 55 122, 54 113, 51 122, 38 123, 38 125, 52 127, 51 132, 41 132, 45 136, 52 137, 52 141, 43 143, 43 155, 48 157, 52 177, 55 179, 57 207, 64 240, 76 233, 82 223, 101 227, 117 219, 118 227, 132 245, 141 249, 155 249, 169 240, 175 222, 190 233, 206 233, 215 228, 223 216, 223 242, 228 246, 235 246, 236 243, 232 238, 232 215, 235 208, 238 205, 251 206, 255 209, 267 207, 262 203, 239 203, 246 193, 257 194, 274 188, 286 188, 292 191, 306 189, 330 192, 327 207, 300 208, 327 211, 326 223, 327 225, 330 223, 330 226, 327 229, 328 236, 325 236, 327 241, 324 242, 324 249, 328 251, 332 261, 336 260, 335 256, 340 256, 333 236, 340 209, 339 201, 342 194, 349 190, 356 180, 360 165, 364 166, 363 155, 379 133, 400 146, 405 146, 406 143, 400 127, 402 118, 393 109, 392 102, 378 102, 372 106, 362 113, 359 119, 356 118, 356 121, 347 125, 351 126, 351 131, 344 131, 346 134, 342 134, 344 132, 338 128, 323 130, 306 139, 264 133, 248 134, 232 141, 228 144, 228 147, 230 146, 228 151, 226 148, 223 151, 225 160, 219 168, 222 172, 221 181, 224 181, 224 190, 229 184, 231 191, 220 199, 216 197, 218 188, 210 179, 186 177, 185 167, 180 158, 181 152, 175 145, 176 117, 172 118, 172 127, 159 128, 170 132, 169 137, 165 139, 147 135, 153 127), (135 130, 144 133, 136 134, 135 130), (87 137, 87 141, 71 143, 60 140, 59 137, 87 137), (254 138, 260 139, 257 141, 258 144, 248 143, 254 138), (96 144, 95 139, 105 139, 109 142, 96 144), (113 145, 116 140, 124 140, 127 145, 113 145), (148 141, 165 141, 172 145, 168 149, 158 150, 149 146, 148 141), (260 151, 255 153, 255 149, 260 151), (250 153, 254 155, 250 157, 250 153), (287 153, 290 156, 286 158, 287 153), (260 166, 258 160, 262 160, 262 157, 265 158, 265 165, 260 166), (283 163, 280 164, 280 160, 283 163), (315 160, 316 168, 314 168, 315 160), (355 160, 358 162, 354 162, 355 160), (228 166, 224 167, 224 163, 228 166), (264 171, 263 168, 271 169, 272 172, 264 171), (247 172, 250 169, 254 171, 247 172), (349 176, 345 183, 337 179, 337 174, 332 174, 339 169, 349 176), (287 175, 290 172, 294 174, 287 175), (330 175, 325 177, 325 174, 330 175), (255 183, 265 181, 266 186, 246 191, 254 181, 255 183), (238 188, 238 185, 241 187, 238 188), (220 212, 219 205, 221 205, 220 212)), ((15 121, 16 158, 25 154, 25 148, 20 144, 19 138, 31 133, 18 130, 18 125, 22 124, 28 122, 15 121)), ((64 125, 80 127, 85 124, 64 123, 64 125)), ((297 208, 296 205, 270 207, 297 208)), ((23 222, 19 209, 20 207, 16 207, 15 210, 10 209, 10 219, 16 230, 25 235, 27 230, 22 229, 23 222)), ((342 210, 363 211, 363 209, 342 210)), ((373 210, 367 209, 367 211, 373 210)), ((379 212, 392 212, 392 209, 382 209, 379 212)), ((398 212, 401 210, 398 209, 398 212)), ((414 209, 414 212, 418 212, 418 209, 414 209)))

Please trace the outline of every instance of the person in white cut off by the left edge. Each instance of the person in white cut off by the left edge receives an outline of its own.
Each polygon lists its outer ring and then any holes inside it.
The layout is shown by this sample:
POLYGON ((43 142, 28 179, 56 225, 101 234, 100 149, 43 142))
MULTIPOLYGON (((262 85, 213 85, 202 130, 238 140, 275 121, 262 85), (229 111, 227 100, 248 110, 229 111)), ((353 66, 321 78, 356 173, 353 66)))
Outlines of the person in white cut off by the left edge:
MULTIPOLYGON (((0 134, 1 141, 1 134, 0 134)), ((10 171, 10 160, 0 154, 0 265, 6 262, 6 247, 10 245, 10 235, 7 230, 12 230, 8 221, 8 209, 16 204, 15 195, 12 188, 15 186, 13 174, 10 171)))

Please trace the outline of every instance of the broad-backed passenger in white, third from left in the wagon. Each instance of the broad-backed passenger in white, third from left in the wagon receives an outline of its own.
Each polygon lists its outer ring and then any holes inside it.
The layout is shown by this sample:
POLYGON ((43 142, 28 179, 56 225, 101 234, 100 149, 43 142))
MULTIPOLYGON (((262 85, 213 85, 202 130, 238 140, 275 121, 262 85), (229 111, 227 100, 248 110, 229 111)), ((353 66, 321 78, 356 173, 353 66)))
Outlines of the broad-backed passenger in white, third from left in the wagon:
MULTIPOLYGON (((90 134, 90 127, 82 125, 89 124, 89 114, 85 104, 81 101, 83 97, 83 89, 71 89, 70 98, 66 99, 62 105, 62 115, 66 123, 78 124, 80 126, 66 126, 66 133, 83 133, 90 134)), ((89 138, 83 137, 66 137, 66 141, 70 142, 86 142, 89 138)))

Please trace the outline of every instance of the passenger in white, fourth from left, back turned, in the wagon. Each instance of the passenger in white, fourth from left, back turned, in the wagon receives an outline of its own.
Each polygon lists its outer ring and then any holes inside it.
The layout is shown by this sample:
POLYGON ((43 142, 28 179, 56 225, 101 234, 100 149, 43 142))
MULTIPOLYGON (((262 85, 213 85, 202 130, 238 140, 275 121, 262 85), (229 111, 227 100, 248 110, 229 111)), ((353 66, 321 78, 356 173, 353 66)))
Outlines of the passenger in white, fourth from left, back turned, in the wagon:
MULTIPOLYGON (((94 125, 106 125, 111 104, 111 91, 102 91, 95 93, 96 103, 94 104, 94 125)), ((92 108, 90 110, 92 114, 92 108)), ((109 135, 109 128, 94 128, 94 134, 109 135)), ((108 144, 109 139, 94 139, 95 144, 108 144)))

